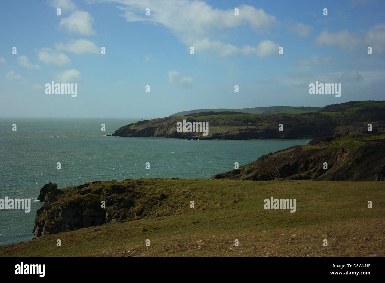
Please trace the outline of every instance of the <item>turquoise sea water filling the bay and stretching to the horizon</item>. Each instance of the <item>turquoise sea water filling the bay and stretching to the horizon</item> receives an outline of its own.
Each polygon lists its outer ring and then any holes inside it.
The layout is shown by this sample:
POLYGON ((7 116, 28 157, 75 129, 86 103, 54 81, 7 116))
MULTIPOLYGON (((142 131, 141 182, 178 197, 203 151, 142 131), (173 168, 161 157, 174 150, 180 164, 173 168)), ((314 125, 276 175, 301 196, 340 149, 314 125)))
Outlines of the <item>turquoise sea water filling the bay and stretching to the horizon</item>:
POLYGON ((31 212, 0 210, 0 245, 32 239, 36 198, 58 188, 129 178, 210 178, 309 140, 203 141, 106 137, 140 119, 0 119, 0 199, 31 199, 31 212), (12 124, 17 131, 12 131, 12 124), (105 131, 101 131, 105 124, 105 131), (57 137, 54 137, 57 136, 57 137), (57 162, 61 169, 57 169, 57 162), (150 170, 146 170, 150 162, 150 170))

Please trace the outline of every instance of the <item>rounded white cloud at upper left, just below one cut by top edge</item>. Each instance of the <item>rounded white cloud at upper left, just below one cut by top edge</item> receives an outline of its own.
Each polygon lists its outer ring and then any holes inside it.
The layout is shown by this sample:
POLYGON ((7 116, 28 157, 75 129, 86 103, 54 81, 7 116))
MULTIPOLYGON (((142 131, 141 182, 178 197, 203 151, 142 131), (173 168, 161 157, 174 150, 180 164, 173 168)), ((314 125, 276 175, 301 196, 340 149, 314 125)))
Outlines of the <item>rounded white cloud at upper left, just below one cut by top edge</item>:
POLYGON ((59 27, 65 27, 70 32, 94 35, 95 31, 92 29, 93 22, 94 18, 92 18, 88 12, 75 11, 69 17, 62 18, 59 27))

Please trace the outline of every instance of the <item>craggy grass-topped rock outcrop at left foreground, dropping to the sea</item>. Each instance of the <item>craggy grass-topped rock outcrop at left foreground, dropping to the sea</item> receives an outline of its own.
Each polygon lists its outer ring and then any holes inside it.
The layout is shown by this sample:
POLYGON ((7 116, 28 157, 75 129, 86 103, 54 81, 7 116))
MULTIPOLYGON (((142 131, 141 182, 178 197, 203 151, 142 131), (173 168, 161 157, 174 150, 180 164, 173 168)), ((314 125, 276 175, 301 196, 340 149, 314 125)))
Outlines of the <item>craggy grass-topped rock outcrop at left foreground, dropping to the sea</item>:
POLYGON ((177 213, 179 204, 186 202, 183 194, 168 198, 164 194, 168 188, 154 189, 161 179, 146 180, 95 181, 46 193, 44 204, 36 213, 34 238, 144 216, 169 215, 170 208, 177 213), (172 205, 163 205, 164 202, 172 205))

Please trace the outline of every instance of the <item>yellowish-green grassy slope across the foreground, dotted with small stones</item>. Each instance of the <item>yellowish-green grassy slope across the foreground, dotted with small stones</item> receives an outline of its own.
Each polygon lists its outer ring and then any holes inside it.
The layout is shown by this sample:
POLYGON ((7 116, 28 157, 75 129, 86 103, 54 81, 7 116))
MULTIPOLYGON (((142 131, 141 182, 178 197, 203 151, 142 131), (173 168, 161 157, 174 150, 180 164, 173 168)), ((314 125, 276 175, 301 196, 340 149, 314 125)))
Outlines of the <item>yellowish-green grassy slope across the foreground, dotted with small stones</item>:
POLYGON ((385 255, 382 182, 140 180, 146 193, 169 196, 162 209, 170 216, 43 236, 2 246, 0 255, 121 256, 123 251, 132 256, 385 255), (296 212, 264 210, 263 200, 270 196, 295 198, 296 212), (180 198, 185 199, 182 206, 169 208, 180 198), (191 200, 194 209, 189 207, 191 200), (373 208, 367 208, 369 200, 373 208), (56 246, 57 239, 61 247, 56 246), (145 246, 146 239, 150 247, 145 246), (239 239, 239 247, 233 246, 234 239, 239 239), (328 239, 328 247, 323 239, 328 239))

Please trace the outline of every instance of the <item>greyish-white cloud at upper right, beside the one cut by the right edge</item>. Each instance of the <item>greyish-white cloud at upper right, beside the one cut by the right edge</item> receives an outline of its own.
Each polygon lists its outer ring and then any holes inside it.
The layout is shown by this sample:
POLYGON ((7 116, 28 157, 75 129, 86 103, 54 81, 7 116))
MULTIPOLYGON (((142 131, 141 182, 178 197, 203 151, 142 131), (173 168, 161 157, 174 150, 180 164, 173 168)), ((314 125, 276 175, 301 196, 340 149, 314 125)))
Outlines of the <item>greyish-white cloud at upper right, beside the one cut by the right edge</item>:
POLYGON ((315 45, 328 45, 353 50, 358 45, 359 40, 348 30, 340 30, 336 33, 329 33, 325 30, 315 38, 314 43, 315 45))

